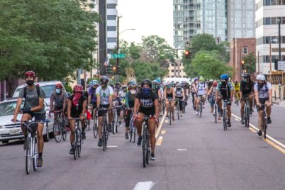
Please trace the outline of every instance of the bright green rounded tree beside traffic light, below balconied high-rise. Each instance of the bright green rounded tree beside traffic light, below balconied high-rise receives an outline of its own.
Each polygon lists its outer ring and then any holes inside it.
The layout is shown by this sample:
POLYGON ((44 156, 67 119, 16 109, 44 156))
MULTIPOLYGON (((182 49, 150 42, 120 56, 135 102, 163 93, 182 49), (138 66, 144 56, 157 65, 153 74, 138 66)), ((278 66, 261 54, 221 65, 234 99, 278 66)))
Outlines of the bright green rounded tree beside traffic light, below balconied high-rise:
POLYGON ((191 68, 193 69, 193 72, 196 72, 196 74, 201 75, 206 79, 218 79, 220 74, 230 74, 231 71, 230 67, 220 59, 219 52, 216 50, 201 50, 197 52, 191 62, 191 68))

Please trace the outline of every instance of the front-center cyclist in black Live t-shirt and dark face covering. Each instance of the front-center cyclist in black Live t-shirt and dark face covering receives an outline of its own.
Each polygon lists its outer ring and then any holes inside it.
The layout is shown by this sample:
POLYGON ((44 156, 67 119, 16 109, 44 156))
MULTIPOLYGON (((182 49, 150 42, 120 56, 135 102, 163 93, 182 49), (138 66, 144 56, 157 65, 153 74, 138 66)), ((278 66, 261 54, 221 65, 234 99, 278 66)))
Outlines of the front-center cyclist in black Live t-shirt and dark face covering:
POLYGON ((148 130, 150 131, 150 144, 151 155, 150 159, 155 160, 155 127, 157 125, 157 119, 159 118, 160 106, 158 96, 152 92, 152 82, 149 79, 144 79, 141 82, 142 89, 135 95, 135 125, 138 130, 138 143, 140 146, 142 143, 142 125, 145 115, 150 116, 148 120, 148 130))

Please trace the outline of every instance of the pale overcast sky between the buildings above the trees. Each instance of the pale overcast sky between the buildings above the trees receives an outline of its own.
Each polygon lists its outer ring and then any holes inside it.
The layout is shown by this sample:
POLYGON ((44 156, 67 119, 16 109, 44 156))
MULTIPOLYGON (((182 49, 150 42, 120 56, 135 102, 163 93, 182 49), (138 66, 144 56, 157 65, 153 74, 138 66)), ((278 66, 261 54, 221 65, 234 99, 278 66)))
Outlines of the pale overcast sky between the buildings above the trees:
POLYGON ((147 35, 159 35, 173 46, 172 0, 118 0, 120 40, 141 43, 147 35))

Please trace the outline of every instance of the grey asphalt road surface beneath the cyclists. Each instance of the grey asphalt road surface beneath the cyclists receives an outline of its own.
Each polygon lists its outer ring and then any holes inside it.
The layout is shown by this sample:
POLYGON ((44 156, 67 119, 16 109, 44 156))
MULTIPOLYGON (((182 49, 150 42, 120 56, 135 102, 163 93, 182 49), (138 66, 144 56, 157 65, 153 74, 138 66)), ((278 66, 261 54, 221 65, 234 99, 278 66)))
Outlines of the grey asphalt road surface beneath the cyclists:
MULTIPOLYGON (((199 118, 188 106, 172 125, 165 119, 157 160, 146 168, 140 147, 124 139, 124 128, 111 135, 106 152, 87 131, 78 160, 68 154, 69 142, 52 139, 45 143, 43 167, 29 175, 23 141, 0 144, 0 189, 134 189, 136 185, 149 189, 152 183, 152 189, 285 189, 284 153, 238 119, 233 118, 233 127, 224 131, 208 110, 206 103, 199 118), (146 181, 151 182, 138 184, 146 181)), ((268 130, 280 143, 285 143, 284 111, 284 107, 273 107, 268 130)), ((236 106, 233 114, 240 116, 236 106)), ((255 126, 256 114, 251 119, 255 126)))

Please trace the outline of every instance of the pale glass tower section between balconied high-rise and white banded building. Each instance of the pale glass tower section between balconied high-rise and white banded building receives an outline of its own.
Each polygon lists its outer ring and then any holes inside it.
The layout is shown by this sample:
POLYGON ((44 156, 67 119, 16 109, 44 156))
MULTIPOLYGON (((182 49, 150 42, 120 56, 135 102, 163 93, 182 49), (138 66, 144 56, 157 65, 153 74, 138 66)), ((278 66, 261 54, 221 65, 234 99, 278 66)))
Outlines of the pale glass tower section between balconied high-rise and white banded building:
POLYGON ((228 40, 255 37, 255 0, 228 0, 228 40))

